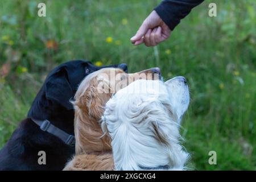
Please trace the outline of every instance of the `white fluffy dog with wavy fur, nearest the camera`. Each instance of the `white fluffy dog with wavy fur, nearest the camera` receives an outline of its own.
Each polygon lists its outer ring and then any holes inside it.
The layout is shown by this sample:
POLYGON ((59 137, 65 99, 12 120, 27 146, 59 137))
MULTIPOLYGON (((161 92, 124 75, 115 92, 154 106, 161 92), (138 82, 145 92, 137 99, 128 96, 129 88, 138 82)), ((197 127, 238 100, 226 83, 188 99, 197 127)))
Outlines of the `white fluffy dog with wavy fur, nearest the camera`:
POLYGON ((115 170, 182 170, 189 155, 179 126, 189 104, 184 77, 137 80, 111 98, 102 117, 115 170))

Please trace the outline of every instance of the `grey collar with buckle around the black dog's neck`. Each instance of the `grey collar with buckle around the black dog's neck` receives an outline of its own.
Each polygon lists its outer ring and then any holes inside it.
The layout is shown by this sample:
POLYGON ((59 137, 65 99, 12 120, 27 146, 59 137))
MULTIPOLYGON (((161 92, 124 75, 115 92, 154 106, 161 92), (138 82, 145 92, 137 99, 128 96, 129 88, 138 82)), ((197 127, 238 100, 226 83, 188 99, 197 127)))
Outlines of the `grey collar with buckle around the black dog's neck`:
POLYGON ((47 119, 44 121, 40 121, 38 119, 32 119, 32 121, 34 121, 36 125, 40 126, 41 130, 47 131, 48 133, 55 135, 55 137, 58 137, 59 139, 63 140, 65 144, 68 144, 69 146, 75 146, 76 141, 73 135, 69 135, 65 133, 65 131, 52 125, 51 122, 49 122, 47 119))

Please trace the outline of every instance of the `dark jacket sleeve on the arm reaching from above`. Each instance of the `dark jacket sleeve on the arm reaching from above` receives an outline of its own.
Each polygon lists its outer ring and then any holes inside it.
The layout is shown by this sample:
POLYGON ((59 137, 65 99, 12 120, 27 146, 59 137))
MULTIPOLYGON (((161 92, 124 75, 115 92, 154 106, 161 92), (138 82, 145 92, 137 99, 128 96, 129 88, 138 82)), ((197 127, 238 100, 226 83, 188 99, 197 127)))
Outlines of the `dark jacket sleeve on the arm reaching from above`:
POLYGON ((191 9, 199 5, 204 0, 164 0, 155 8, 156 13, 174 30, 180 20, 187 16, 191 9))

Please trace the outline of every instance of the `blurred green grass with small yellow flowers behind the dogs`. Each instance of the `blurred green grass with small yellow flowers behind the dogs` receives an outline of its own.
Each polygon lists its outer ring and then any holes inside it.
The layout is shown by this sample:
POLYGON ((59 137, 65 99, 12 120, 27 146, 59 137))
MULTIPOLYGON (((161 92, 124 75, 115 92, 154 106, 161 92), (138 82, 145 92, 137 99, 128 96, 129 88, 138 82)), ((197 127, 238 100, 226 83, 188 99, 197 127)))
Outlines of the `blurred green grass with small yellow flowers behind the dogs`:
POLYGON ((181 135, 196 170, 256 169, 256 2, 205 1, 157 47, 129 39, 160 1, 0 0, 0 148, 52 68, 73 59, 188 79, 181 135), (37 5, 46 3, 46 17, 37 5), (210 2, 217 17, 208 16, 210 2), (208 152, 217 152, 217 165, 208 152))

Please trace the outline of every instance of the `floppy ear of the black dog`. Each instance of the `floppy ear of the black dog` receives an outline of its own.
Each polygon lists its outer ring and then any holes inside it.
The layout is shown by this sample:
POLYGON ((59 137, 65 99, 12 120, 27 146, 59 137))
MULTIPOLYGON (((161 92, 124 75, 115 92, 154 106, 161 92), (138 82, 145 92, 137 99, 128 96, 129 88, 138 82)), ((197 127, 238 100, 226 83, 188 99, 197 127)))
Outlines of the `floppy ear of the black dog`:
POLYGON ((58 102, 68 110, 73 109, 73 105, 70 102, 73 98, 73 90, 65 70, 60 70, 48 78, 46 82, 46 98, 47 100, 58 102))

